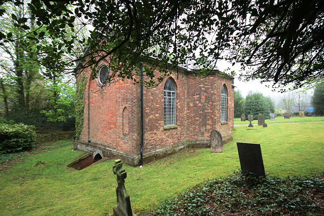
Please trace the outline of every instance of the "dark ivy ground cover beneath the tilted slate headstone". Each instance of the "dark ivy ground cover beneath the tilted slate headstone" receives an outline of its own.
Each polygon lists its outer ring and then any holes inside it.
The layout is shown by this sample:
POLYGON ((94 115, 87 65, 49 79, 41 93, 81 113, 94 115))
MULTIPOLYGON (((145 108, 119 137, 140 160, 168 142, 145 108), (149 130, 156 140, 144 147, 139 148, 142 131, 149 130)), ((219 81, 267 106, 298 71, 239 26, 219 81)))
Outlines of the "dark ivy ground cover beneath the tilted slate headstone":
POLYGON ((322 211, 317 196, 323 187, 322 175, 263 179, 238 171, 190 188, 149 215, 313 214, 322 211))

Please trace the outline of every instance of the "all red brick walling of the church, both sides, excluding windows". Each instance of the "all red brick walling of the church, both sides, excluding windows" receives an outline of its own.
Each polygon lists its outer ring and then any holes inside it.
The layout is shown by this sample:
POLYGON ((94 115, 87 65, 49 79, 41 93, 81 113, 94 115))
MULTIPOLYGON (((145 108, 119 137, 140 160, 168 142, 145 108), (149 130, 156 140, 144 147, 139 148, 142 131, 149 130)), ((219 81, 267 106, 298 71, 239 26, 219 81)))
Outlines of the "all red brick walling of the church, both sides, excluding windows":
MULTIPOLYGON (((86 70, 83 143, 138 157, 140 154, 140 87, 132 80, 110 83, 100 88, 86 70)), ((156 71, 156 73, 158 73, 156 71)), ((207 142, 213 129, 223 138, 231 136, 234 90, 231 79, 213 73, 205 78, 192 74, 171 75, 177 85, 177 128, 164 128, 164 84, 144 88, 144 154, 185 142, 207 142), (227 119, 221 123, 221 90, 226 85, 227 119)), ((187 72, 188 73, 188 72, 187 72)))

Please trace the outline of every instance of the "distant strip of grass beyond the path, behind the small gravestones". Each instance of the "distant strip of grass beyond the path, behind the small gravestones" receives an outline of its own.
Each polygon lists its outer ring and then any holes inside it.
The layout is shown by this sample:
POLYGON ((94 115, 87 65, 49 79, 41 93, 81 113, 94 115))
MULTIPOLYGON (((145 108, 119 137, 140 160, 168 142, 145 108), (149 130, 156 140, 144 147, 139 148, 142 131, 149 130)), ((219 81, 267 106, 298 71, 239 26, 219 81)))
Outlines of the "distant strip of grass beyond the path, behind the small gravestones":
MULTIPOLYGON (((253 116, 252 124, 258 123, 258 116, 253 116)), ((265 119, 265 123, 288 123, 288 122, 313 122, 313 121, 324 121, 324 116, 305 116, 305 117, 291 117, 290 119, 285 119, 284 116, 275 117, 274 121, 270 119, 265 119)), ((249 124, 248 117, 246 116, 246 121, 241 121, 241 118, 234 118, 234 124, 249 124)))

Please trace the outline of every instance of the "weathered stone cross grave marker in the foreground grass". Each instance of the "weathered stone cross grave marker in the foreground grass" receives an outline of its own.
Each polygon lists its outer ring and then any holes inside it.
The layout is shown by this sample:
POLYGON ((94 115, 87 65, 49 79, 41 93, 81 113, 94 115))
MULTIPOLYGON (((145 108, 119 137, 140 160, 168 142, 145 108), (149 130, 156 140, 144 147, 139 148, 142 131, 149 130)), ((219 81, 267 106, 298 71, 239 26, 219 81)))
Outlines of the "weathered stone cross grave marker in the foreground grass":
POLYGON ((132 216, 132 208, 131 208, 131 199, 128 195, 125 188, 125 179, 127 178, 127 173, 123 167, 123 162, 120 159, 115 160, 114 165, 112 166, 113 174, 117 177, 117 187, 116 187, 116 195, 117 195, 117 206, 113 207, 113 214, 115 216, 132 216))

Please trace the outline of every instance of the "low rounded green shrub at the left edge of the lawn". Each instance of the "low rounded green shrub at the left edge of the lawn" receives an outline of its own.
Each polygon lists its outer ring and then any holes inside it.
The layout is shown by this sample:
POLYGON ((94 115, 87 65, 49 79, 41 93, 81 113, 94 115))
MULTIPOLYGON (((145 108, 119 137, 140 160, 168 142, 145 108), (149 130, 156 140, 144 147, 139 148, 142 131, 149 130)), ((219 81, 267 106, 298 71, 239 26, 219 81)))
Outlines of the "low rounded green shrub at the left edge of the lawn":
POLYGON ((35 137, 33 125, 0 124, 0 154, 31 148, 35 137))

